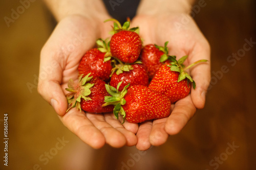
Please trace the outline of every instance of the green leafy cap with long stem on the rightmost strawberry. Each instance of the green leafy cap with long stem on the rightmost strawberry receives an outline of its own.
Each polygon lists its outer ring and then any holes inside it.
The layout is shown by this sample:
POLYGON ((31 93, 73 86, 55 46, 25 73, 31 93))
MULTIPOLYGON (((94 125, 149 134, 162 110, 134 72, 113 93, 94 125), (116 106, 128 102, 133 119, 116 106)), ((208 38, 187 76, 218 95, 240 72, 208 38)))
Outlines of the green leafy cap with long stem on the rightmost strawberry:
MULTIPOLYGON (((167 59, 172 61, 172 62, 170 62, 170 65, 167 65, 167 66, 170 67, 170 70, 172 70, 172 71, 180 72, 177 82, 180 82, 180 81, 184 80, 185 78, 187 78, 187 81, 188 81, 187 84, 192 83, 192 86, 195 89, 196 82, 191 78, 191 76, 186 72, 186 70, 200 62, 207 62, 208 60, 198 60, 198 61, 190 64, 189 66, 185 67, 185 65, 183 63, 187 59, 187 57, 188 56, 183 56, 177 61, 176 56, 167 56, 167 59)), ((160 61, 161 61, 161 59, 160 59, 160 61)))

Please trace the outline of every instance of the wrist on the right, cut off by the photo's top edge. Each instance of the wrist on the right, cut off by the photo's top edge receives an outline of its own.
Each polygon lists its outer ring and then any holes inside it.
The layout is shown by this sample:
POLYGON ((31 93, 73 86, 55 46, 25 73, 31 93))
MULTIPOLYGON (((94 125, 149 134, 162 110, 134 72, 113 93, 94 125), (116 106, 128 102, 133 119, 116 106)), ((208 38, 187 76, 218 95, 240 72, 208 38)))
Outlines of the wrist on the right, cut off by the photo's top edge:
POLYGON ((194 0, 142 0, 138 15, 159 15, 164 13, 189 13, 194 0))

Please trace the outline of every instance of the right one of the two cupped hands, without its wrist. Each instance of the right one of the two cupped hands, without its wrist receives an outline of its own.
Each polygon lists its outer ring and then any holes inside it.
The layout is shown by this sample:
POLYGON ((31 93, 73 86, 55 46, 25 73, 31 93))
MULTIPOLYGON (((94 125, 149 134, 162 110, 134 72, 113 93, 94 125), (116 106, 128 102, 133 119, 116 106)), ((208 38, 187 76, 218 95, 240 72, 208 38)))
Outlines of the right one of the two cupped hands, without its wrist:
MULTIPOLYGON (((132 26, 140 28, 140 36, 144 40, 144 45, 163 46, 165 41, 169 41, 169 55, 176 55, 177 59, 188 55, 185 65, 201 59, 210 61, 210 47, 207 40, 193 18, 185 13, 138 15, 132 20, 132 26), (184 24, 182 19, 188 19, 188 21, 184 24)), ((191 94, 172 105, 172 113, 169 117, 140 124, 136 145, 139 150, 146 150, 151 145, 163 144, 168 135, 181 131, 195 114, 196 108, 204 107, 205 94, 210 82, 210 62, 198 64, 189 71, 196 82, 196 89, 191 89, 191 94)))

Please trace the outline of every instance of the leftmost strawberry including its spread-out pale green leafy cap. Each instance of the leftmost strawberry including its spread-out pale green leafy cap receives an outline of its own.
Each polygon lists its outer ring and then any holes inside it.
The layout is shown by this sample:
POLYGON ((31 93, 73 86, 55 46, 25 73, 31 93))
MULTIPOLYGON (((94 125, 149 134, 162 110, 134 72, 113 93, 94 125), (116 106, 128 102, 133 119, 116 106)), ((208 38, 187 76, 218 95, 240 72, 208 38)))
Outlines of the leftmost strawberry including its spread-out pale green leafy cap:
MULTIPOLYGON (((66 88, 69 109, 76 107, 77 110, 87 111, 89 113, 111 112, 113 106, 101 107, 104 104, 104 97, 110 95, 105 89, 105 82, 99 78, 89 77, 90 73, 82 78, 79 76, 78 84, 71 79, 66 88)), ((67 111, 68 111, 67 110, 67 111)))

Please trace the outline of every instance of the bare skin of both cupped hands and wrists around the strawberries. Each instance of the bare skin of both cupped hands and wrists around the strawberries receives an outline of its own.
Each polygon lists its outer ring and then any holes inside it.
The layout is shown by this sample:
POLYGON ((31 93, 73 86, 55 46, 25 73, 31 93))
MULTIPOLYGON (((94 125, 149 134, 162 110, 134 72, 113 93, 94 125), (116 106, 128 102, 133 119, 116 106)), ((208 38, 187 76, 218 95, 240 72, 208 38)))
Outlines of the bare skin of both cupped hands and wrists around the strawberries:
MULTIPOLYGON (((109 37, 113 23, 103 23, 111 16, 100 0, 45 1, 58 24, 41 50, 38 92, 52 105, 62 123, 83 142, 93 148, 101 148, 106 143, 115 148, 136 145, 139 150, 147 150, 151 145, 163 144, 169 135, 179 133, 193 117, 196 108, 204 107, 210 81, 209 62, 189 70, 197 88, 172 105, 173 111, 167 118, 139 125, 128 122, 121 125, 113 113, 92 114, 76 109, 66 113, 68 103, 65 88, 68 81, 77 79, 81 57, 95 45, 97 38, 109 37), (49 67, 51 73, 42 74, 49 67)), ((175 21, 181 21, 182 14, 189 12, 191 3, 193 1, 187 0, 141 1, 131 25, 140 27, 144 44, 163 45, 169 41, 169 54, 177 58, 188 55, 185 64, 199 59, 209 60, 209 44, 191 17, 180 29, 173 25, 175 21)))

